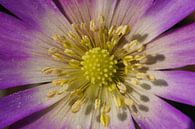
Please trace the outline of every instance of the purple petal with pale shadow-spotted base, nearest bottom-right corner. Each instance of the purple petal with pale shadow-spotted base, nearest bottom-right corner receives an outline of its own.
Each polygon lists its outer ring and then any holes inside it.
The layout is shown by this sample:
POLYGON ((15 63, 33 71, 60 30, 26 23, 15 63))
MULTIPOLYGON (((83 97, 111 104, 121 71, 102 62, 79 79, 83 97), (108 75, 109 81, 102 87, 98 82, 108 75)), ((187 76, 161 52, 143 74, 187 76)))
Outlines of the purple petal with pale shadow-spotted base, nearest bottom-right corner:
POLYGON ((137 90, 137 93, 132 92, 137 103, 137 112, 132 114, 142 129, 190 129, 192 121, 187 116, 160 98, 140 89, 137 90), (145 95, 148 101, 140 100, 142 98, 140 94, 145 95))

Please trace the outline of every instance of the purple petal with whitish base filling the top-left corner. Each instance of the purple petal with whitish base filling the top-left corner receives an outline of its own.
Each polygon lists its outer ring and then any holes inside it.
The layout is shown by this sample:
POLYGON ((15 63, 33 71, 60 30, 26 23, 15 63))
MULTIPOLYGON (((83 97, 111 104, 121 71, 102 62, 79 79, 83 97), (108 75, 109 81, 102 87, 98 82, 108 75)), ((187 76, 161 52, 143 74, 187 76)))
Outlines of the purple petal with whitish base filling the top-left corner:
POLYGON ((61 34, 70 24, 52 0, 0 0, 0 4, 47 35, 61 34))

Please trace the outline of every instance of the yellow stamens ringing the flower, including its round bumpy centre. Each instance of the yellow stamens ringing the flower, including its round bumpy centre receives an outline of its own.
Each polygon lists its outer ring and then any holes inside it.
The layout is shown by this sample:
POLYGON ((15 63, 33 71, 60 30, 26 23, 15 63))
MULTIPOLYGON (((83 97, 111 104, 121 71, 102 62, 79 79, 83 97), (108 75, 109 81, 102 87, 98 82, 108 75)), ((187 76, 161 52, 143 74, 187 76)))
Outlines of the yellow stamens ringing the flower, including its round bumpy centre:
POLYGON ((51 48, 48 53, 64 66, 46 67, 45 74, 54 74, 59 79, 53 80, 55 91, 48 93, 48 97, 69 92, 69 99, 74 98, 71 111, 76 113, 83 104, 94 100, 94 110, 100 111, 100 122, 106 127, 110 123, 110 99, 105 99, 105 92, 113 96, 117 108, 134 105, 128 97, 132 85, 139 84, 139 80, 154 80, 152 75, 140 72, 144 67, 145 47, 137 40, 127 42, 125 36, 129 34, 127 25, 111 26, 107 28, 104 18, 99 23, 91 21, 73 24, 74 32, 67 35, 55 35, 54 41, 62 48, 51 48), (75 85, 76 84, 76 85, 75 85), (91 93, 93 92, 93 93, 91 93))

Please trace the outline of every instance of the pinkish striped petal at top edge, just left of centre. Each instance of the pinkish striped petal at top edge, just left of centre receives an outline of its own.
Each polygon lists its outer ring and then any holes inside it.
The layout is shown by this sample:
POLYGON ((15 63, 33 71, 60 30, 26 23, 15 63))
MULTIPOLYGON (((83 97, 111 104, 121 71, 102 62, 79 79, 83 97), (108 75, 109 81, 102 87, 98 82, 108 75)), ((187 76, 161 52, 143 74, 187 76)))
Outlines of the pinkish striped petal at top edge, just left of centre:
POLYGON ((86 23, 92 18, 95 0, 60 0, 71 23, 86 23))

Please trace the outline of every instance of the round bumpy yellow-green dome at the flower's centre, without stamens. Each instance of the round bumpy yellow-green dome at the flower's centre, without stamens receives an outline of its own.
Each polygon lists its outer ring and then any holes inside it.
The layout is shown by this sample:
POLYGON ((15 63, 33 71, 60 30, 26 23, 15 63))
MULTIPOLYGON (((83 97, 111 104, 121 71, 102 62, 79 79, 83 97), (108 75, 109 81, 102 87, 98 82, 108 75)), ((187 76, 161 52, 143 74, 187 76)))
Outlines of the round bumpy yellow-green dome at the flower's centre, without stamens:
POLYGON ((86 52, 82 59, 81 70, 88 81, 100 86, 112 82, 112 78, 117 72, 117 60, 107 50, 99 47, 93 48, 86 52))

